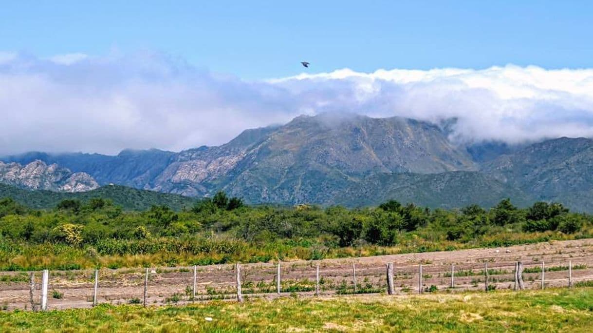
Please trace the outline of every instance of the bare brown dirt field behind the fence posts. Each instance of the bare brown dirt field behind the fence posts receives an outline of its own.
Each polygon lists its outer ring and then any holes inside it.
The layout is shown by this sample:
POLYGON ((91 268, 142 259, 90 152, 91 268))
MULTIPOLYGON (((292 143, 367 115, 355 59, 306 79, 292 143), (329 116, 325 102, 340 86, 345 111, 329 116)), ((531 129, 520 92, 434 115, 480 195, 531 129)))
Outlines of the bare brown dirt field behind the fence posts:
MULTIPOLYGON (((572 283, 593 280, 593 239, 551 241, 509 248, 470 249, 451 252, 409 253, 365 258, 325 259, 281 262, 280 296, 313 296, 315 271, 320 267, 320 294, 354 293, 353 264, 356 267, 356 293, 382 293, 387 284, 388 262, 394 264, 396 293, 419 292, 419 265, 422 264, 422 290, 425 292, 484 290, 484 263, 491 288, 514 285, 515 262, 525 271, 525 288, 541 288, 541 262, 545 263, 545 286, 568 286, 568 266, 572 262, 572 283), (451 265, 455 267, 451 288, 451 265), (434 286, 434 287, 431 287, 434 286)), ((34 300, 39 303, 41 272, 35 275, 34 300)), ((195 302, 235 299, 234 265, 197 267, 195 302)), ((138 303, 144 296, 145 268, 101 269, 98 303, 114 305, 138 303)), ((241 280, 244 297, 278 297, 276 264, 243 264, 241 280)), ((0 272, 0 306, 3 309, 31 309, 28 272, 0 272)), ((192 302, 193 268, 149 268, 148 305, 192 302)), ((50 271, 48 309, 91 307, 94 271, 50 271)))

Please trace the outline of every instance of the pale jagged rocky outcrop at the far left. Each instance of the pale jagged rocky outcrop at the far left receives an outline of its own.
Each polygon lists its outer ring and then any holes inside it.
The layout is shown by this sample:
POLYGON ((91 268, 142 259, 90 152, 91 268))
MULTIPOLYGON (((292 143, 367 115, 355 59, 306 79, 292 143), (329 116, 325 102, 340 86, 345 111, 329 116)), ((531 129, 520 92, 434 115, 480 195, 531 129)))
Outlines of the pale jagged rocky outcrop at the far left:
POLYGON ((25 166, 0 162, 0 182, 21 188, 60 192, 84 192, 99 187, 88 173, 72 173, 57 164, 48 166, 40 160, 32 161, 25 166))

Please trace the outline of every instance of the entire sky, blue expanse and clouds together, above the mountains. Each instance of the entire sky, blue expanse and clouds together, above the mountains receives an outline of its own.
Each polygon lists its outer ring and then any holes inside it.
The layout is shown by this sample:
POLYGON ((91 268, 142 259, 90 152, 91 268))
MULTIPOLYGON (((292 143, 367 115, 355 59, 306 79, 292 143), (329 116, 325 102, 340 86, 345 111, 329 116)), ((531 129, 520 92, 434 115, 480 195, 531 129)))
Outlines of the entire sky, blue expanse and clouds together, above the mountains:
POLYGON ((592 137, 593 2, 515 2, 3 1, 0 154, 178 151, 326 111, 592 137))

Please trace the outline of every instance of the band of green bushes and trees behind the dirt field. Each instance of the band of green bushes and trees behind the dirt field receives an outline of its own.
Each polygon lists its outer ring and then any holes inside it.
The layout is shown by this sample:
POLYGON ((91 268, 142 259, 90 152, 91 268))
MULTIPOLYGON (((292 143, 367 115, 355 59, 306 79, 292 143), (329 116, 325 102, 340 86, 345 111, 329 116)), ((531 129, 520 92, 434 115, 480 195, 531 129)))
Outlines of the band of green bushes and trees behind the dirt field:
POLYGON ((430 210, 387 201, 347 209, 246 206, 219 192, 191 210, 122 211, 65 199, 36 211, 0 200, 0 270, 151 267, 322 259, 508 246, 593 236, 562 204, 430 210))

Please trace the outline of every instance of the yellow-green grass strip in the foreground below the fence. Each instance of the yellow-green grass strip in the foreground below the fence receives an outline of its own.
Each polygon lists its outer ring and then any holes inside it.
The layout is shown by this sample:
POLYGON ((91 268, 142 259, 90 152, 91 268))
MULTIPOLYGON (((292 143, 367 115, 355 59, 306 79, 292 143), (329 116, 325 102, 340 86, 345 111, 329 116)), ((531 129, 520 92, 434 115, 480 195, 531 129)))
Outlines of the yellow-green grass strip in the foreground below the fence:
POLYGON ((2 332, 590 332, 593 288, 0 313, 2 332), (211 317, 212 321, 206 321, 211 317))

